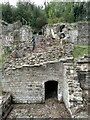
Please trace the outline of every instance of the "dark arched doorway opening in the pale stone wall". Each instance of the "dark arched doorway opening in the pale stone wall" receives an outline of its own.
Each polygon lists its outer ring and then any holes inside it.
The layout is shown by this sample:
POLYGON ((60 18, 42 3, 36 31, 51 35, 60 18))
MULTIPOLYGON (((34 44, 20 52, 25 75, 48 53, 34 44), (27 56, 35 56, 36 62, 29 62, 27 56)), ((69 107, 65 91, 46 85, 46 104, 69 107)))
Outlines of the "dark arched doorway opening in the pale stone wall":
POLYGON ((57 81, 47 81, 45 83, 45 99, 48 98, 57 98, 57 81))

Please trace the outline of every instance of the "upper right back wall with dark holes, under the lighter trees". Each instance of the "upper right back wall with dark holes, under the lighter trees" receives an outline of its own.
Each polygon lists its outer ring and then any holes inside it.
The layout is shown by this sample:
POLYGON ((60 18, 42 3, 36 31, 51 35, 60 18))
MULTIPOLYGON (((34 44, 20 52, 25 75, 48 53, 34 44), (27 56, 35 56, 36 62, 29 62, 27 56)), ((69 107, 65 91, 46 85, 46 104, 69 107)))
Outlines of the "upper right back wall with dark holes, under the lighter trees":
POLYGON ((69 38, 74 45, 90 45, 90 23, 79 22, 76 25, 61 23, 53 25, 53 27, 46 25, 43 29, 46 36, 63 40, 62 34, 64 33, 65 38, 69 38), (61 30, 63 25, 65 27, 61 30))

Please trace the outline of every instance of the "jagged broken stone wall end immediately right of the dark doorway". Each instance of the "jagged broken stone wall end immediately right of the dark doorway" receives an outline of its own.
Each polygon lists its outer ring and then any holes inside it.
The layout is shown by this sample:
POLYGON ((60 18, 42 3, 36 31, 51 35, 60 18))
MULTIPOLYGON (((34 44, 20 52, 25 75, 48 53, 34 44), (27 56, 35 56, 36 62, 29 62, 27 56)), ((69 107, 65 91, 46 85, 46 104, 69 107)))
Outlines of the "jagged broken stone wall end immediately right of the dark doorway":
POLYGON ((63 101, 71 116, 77 118, 76 112, 83 107, 83 99, 82 89, 73 63, 64 64, 63 101))

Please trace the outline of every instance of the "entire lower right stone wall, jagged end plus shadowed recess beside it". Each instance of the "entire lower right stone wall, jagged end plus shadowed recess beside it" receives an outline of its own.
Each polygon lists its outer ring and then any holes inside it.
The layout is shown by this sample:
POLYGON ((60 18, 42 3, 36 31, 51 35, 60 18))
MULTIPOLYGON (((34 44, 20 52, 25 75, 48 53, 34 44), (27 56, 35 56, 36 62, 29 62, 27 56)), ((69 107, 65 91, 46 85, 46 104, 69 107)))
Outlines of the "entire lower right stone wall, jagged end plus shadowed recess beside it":
POLYGON ((87 118, 90 90, 90 56, 64 63, 63 100, 74 118, 87 118))

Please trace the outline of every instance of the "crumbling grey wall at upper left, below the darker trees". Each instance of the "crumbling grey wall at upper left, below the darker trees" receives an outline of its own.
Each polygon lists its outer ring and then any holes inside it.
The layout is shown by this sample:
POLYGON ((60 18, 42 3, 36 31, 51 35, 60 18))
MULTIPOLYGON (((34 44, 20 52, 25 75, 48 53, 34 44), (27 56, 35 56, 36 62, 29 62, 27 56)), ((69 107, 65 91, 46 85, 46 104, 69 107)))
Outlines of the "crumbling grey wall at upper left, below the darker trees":
MULTIPOLYGON (((13 52, 19 48, 18 43, 23 42, 27 46, 31 45, 32 29, 27 25, 22 25, 20 21, 14 24, 0 23, 1 51, 13 52), (17 44, 16 44, 17 43, 17 44)), ((24 45, 23 45, 24 46, 24 45)))

